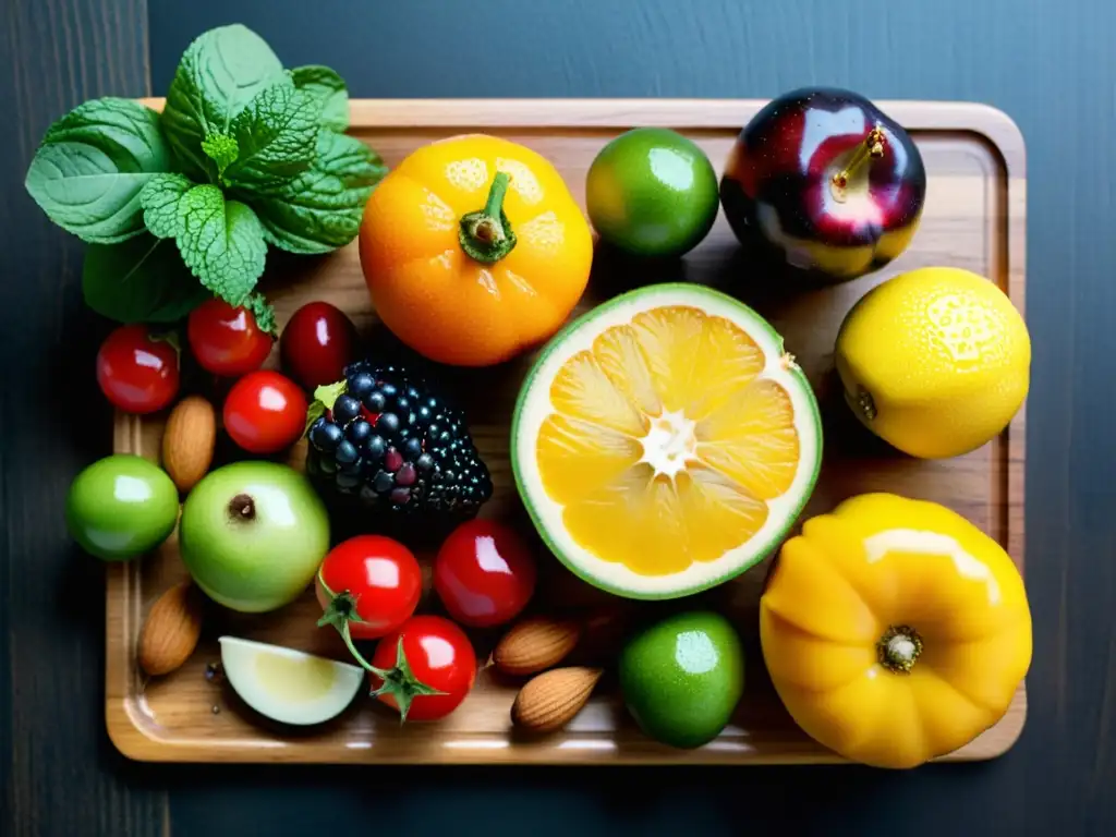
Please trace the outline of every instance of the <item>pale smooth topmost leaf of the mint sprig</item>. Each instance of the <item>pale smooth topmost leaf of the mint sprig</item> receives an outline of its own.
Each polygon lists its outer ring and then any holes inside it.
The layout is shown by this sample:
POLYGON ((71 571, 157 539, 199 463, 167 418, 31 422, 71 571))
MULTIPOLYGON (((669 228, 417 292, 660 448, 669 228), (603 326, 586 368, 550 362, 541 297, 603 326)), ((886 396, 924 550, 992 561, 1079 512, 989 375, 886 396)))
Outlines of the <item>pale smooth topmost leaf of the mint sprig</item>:
POLYGON ((229 134, 232 121, 256 95, 272 86, 294 87, 282 64, 260 36, 240 23, 211 29, 182 56, 166 93, 162 125, 183 173, 214 179, 202 152, 210 134, 229 134))

